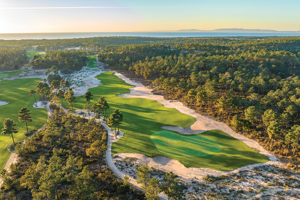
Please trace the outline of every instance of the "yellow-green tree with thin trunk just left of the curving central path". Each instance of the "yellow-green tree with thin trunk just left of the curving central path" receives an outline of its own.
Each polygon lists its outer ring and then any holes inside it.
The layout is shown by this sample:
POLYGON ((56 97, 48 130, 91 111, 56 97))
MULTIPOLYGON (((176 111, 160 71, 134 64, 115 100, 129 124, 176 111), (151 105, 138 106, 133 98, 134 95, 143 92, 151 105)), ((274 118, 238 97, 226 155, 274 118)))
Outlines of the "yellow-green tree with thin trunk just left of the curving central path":
POLYGON ((103 158, 104 152, 107 150, 107 145, 104 141, 96 140, 91 144, 90 148, 86 149, 86 155, 90 157, 96 157, 99 162, 100 172, 101 171, 101 159, 103 158))

